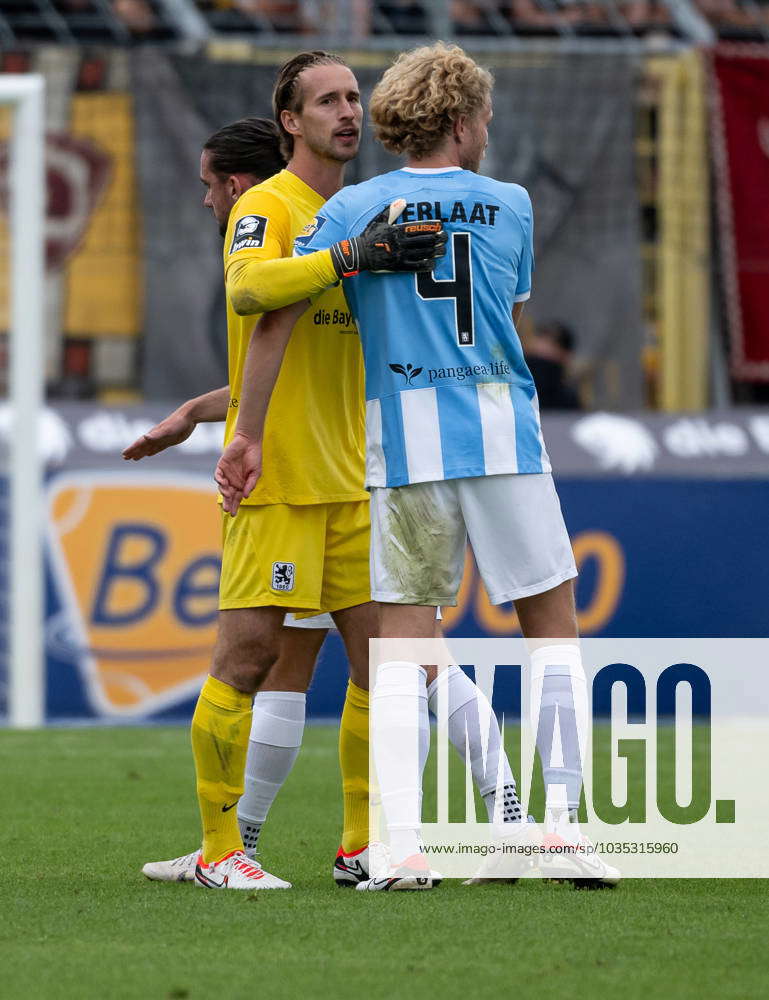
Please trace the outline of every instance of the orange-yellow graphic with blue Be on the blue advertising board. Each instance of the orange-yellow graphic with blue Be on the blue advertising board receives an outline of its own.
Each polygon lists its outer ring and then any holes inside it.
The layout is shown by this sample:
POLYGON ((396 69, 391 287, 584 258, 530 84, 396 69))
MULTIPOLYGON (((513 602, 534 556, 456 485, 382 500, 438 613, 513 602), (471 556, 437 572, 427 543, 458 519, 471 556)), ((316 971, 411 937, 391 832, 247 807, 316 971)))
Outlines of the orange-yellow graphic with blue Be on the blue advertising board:
POLYGON ((221 515, 210 480, 83 472, 50 493, 53 571, 94 708, 196 695, 216 634, 221 515))

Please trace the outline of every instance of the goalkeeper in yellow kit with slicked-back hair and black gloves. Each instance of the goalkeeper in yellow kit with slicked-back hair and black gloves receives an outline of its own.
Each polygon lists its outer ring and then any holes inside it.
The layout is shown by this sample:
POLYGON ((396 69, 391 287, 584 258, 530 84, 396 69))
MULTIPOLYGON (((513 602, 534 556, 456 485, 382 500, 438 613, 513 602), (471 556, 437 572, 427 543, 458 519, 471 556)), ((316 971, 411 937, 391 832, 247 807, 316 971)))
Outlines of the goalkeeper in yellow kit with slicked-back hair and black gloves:
MULTIPOLYGON (((299 292, 312 296, 364 267, 430 267, 442 252, 441 240, 419 227, 381 223, 331 251, 291 259, 294 239, 314 232, 315 215, 341 186, 344 165, 357 152, 362 113, 352 72, 320 52, 303 53, 283 67, 274 103, 288 168, 244 189, 234 206, 226 188, 212 189, 207 198, 220 225, 226 223, 226 442, 235 431, 243 360, 257 313, 296 299, 299 292)), ((331 612, 345 642, 351 684, 340 735, 341 745, 348 730, 347 760, 344 749, 341 753, 343 853, 365 849, 368 639, 375 621, 369 603, 362 399, 356 330, 341 291, 333 289, 302 317, 286 354, 265 433, 270 474, 252 493, 244 516, 224 520, 219 634, 192 727, 203 820, 195 880, 202 886, 287 885, 243 853, 233 808, 243 792, 251 700, 277 659, 286 611, 298 617, 331 612)))

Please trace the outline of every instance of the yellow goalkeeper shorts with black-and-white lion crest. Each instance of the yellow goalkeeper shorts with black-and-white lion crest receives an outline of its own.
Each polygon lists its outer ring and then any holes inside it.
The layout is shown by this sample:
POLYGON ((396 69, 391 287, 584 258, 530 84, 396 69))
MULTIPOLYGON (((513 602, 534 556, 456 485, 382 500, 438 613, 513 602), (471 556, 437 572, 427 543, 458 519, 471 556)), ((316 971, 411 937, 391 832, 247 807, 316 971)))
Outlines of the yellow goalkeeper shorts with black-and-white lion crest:
POLYGON ((280 607, 301 618, 371 600, 368 500, 222 516, 222 610, 280 607))

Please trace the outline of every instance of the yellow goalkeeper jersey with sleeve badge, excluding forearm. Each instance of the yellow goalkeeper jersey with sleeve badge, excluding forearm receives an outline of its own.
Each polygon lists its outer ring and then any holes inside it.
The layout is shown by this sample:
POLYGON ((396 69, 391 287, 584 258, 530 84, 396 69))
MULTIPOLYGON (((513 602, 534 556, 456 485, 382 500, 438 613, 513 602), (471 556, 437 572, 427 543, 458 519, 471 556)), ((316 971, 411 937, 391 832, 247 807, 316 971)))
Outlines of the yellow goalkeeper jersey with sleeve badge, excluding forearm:
MULTIPOLYGON (((243 194, 230 213, 224 273, 238 262, 290 257, 323 198, 282 170, 243 194)), ((297 261, 298 263, 298 261, 297 261)), ((234 280, 230 274, 230 282, 234 280)), ((227 297, 230 403, 225 445, 235 432, 246 351, 258 316, 238 316, 227 297)), ((368 497, 363 358, 340 287, 297 321, 267 411, 263 474, 246 504, 315 504, 368 497)))

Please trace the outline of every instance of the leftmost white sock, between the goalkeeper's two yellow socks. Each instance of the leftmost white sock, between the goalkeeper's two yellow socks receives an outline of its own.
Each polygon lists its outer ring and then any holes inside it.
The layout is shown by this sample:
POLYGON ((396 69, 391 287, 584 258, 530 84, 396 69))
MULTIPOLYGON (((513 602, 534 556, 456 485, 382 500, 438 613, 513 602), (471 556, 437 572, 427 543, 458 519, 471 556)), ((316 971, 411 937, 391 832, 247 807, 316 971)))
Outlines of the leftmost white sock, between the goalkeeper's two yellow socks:
POLYGON ((262 824, 302 745, 307 696, 298 691, 259 691, 254 698, 238 825, 249 857, 256 854, 262 824))

